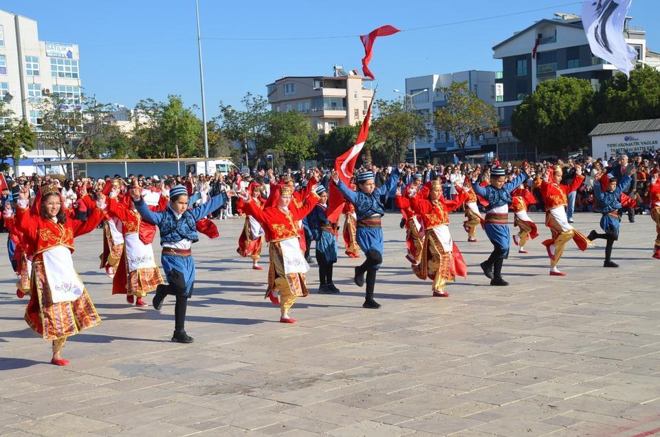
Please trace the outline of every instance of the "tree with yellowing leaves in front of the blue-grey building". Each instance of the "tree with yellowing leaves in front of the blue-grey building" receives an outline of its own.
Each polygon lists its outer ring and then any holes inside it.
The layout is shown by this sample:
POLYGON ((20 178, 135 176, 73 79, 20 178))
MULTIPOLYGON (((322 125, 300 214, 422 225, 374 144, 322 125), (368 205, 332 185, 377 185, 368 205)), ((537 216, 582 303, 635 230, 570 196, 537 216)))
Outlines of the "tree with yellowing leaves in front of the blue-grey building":
POLYGON ((445 94, 447 105, 439 107, 434 114, 437 129, 448 131, 454 137, 465 158, 467 140, 492 131, 497 125, 495 108, 478 98, 467 82, 454 82, 438 91, 445 94))

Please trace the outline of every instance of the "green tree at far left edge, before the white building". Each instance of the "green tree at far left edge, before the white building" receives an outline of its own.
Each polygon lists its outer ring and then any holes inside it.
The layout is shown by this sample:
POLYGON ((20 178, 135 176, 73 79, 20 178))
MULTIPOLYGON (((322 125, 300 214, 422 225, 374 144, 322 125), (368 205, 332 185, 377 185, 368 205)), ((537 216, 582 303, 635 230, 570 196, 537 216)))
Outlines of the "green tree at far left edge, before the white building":
POLYGON ((31 151, 36 146, 36 135, 25 118, 14 118, 14 112, 0 101, 0 171, 8 169, 6 158, 18 165, 23 150, 31 151))

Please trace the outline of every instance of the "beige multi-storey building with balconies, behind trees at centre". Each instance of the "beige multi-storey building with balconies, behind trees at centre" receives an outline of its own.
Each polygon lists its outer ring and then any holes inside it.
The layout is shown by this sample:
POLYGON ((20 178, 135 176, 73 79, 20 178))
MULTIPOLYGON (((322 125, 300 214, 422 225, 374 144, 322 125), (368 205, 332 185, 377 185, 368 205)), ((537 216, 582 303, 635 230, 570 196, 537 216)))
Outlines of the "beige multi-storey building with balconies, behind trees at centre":
POLYGON ((320 134, 339 125, 355 125, 364 120, 373 90, 371 80, 348 74, 335 66, 333 76, 285 76, 266 85, 273 111, 298 111, 311 119, 320 134))

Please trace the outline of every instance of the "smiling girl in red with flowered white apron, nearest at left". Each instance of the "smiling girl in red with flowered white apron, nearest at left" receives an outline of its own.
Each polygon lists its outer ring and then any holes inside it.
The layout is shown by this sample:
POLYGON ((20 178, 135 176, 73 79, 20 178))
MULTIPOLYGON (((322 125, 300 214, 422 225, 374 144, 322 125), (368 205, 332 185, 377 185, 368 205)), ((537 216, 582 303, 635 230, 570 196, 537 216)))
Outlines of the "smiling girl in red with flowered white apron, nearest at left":
POLYGON ((100 223, 105 196, 98 195, 96 207, 85 222, 67 217, 55 185, 41 188, 32 211, 28 209, 29 199, 30 193, 23 187, 19 192, 16 227, 27 237, 34 253, 25 321, 44 340, 53 342, 50 362, 67 365, 69 361, 61 355, 67 337, 101 321, 76 273, 71 254, 74 238, 89 233, 100 223))

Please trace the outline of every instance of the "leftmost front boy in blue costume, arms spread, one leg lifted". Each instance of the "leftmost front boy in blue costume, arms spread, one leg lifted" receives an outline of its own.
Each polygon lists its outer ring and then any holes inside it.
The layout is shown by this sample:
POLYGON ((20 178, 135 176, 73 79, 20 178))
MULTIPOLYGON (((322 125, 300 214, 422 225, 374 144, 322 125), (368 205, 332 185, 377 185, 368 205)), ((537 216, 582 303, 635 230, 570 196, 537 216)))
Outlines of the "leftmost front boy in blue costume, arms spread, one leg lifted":
POLYGON ((159 285, 153 297, 153 308, 160 310, 167 295, 177 299, 174 307, 174 334, 172 341, 192 343, 195 341, 186 333, 186 309, 195 284, 195 261, 192 258, 192 244, 198 241, 196 222, 215 211, 228 196, 235 191, 219 193, 208 202, 193 209, 188 209, 188 191, 183 185, 170 189, 170 202, 166 211, 151 211, 142 200, 142 190, 137 183, 131 189, 135 209, 142 219, 154 224, 160 230, 160 245, 163 247, 161 264, 167 277, 167 285, 159 285))

